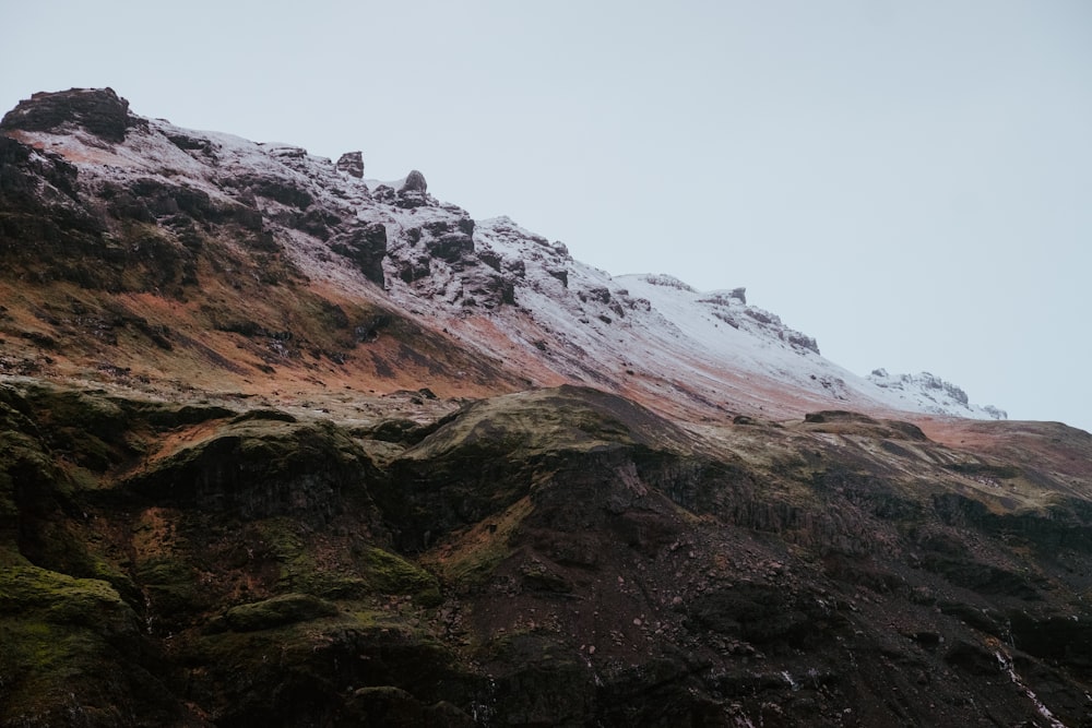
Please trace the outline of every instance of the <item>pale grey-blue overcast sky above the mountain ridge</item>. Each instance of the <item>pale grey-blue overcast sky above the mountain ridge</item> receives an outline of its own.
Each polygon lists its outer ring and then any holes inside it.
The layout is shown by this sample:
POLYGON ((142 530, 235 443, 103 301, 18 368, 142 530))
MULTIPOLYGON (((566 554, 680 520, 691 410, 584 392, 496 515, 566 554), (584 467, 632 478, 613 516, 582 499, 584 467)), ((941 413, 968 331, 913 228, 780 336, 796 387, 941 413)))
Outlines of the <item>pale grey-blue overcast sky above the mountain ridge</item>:
POLYGON ((858 374, 1092 430, 1092 2, 4 2, 0 107, 134 112, 425 174, 858 374))

